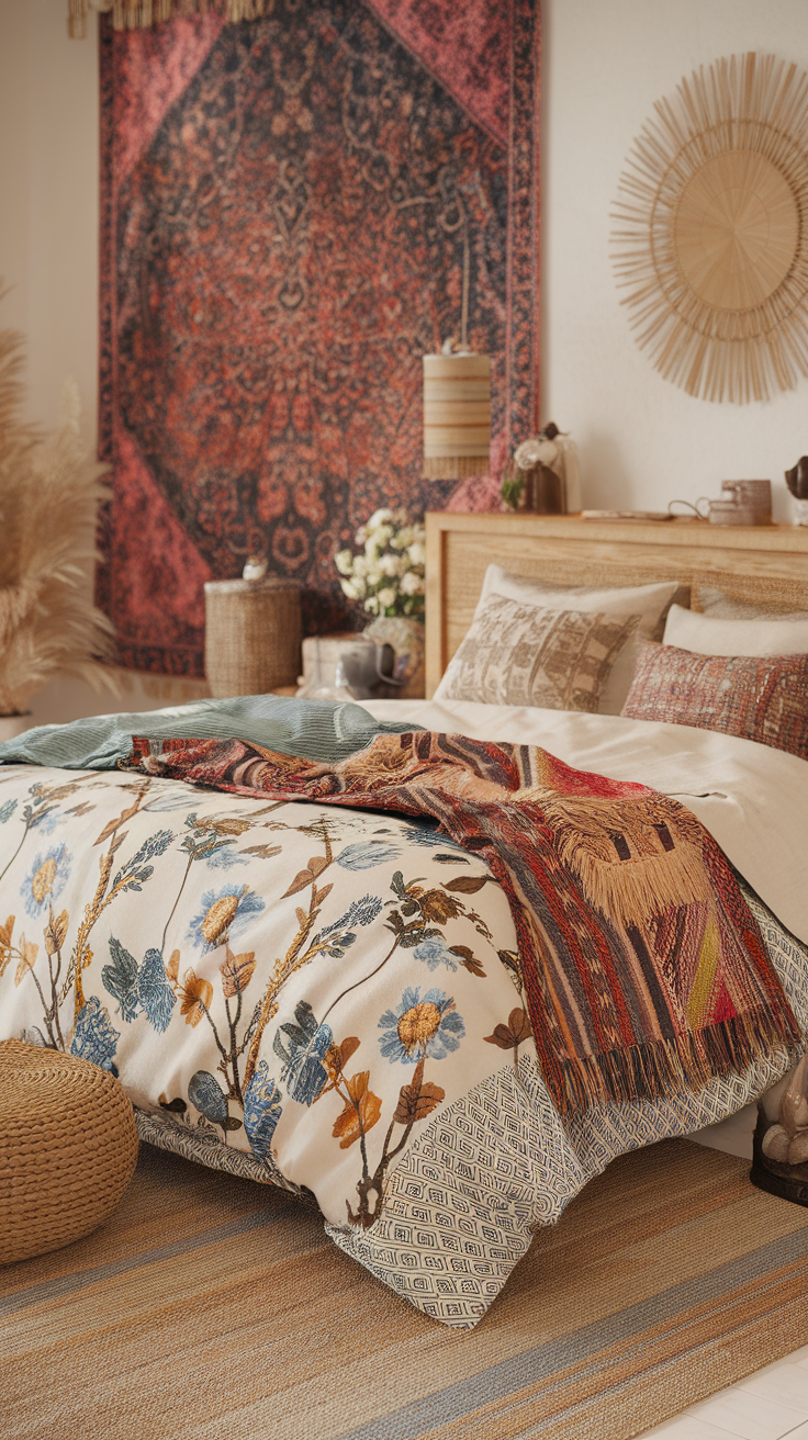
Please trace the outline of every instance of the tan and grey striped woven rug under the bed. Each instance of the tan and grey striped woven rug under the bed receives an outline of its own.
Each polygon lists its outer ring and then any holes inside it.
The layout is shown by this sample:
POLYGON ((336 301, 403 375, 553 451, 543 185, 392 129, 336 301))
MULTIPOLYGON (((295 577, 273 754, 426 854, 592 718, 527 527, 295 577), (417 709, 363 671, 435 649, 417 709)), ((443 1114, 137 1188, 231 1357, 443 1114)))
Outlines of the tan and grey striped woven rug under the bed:
POLYGON ((425 1319, 281 1191, 141 1148, 86 1240, 0 1272, 3 1440, 624 1440, 808 1339, 808 1210, 667 1140, 425 1319))

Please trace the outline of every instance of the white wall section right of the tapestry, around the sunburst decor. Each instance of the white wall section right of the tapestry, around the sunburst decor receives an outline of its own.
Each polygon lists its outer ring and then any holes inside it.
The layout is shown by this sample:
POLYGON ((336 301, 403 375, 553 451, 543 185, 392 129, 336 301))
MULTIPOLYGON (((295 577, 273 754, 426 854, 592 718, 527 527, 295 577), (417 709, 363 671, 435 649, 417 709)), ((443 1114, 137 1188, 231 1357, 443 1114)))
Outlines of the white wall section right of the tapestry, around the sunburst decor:
POLYGON ((808 69, 807 0, 543 0, 543 419, 580 445, 583 503, 665 508, 722 480, 775 481, 808 452, 808 380, 768 403, 696 400, 638 348, 609 262, 631 143, 684 75, 768 50, 808 69))

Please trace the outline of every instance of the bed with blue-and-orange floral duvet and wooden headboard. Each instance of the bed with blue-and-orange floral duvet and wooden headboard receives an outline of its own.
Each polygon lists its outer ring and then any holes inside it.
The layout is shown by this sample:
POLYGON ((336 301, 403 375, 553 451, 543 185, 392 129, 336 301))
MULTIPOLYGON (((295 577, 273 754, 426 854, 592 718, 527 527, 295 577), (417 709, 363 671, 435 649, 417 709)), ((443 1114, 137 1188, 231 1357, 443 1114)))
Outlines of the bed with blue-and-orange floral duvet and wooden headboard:
MULTIPOLYGON (((484 527, 488 550, 491 521, 498 553, 516 541, 523 575, 546 566, 549 531, 533 553, 530 527, 500 520, 429 517, 432 685, 471 619, 484 527)), ((782 536, 782 553, 769 534, 762 550, 729 533, 709 553, 667 541, 675 564, 668 552, 655 564, 652 536, 638 560, 619 534, 588 533, 603 552, 579 557, 578 582, 602 585, 616 566, 634 583, 673 570, 683 586, 722 575, 737 590, 746 575, 775 609, 808 609, 802 537, 782 536)), ((569 566, 569 552, 553 563, 569 566)), ((327 707, 326 753, 284 732, 285 704, 245 719, 219 703, 215 723, 205 707, 124 717, 75 755, 63 733, 3 747, 0 1038, 114 1070, 143 1139, 317 1204, 372 1274, 468 1328, 534 1227, 612 1158, 722 1120, 794 1067, 808 1031, 808 765, 710 730, 451 698, 373 703, 366 732, 354 707, 327 707), (539 1063, 519 912, 491 855, 438 829, 439 809, 402 814, 395 796, 344 780, 369 739, 423 756, 418 727, 500 759, 539 746, 573 775, 684 806, 737 877, 789 1037, 699 1084, 559 1103, 539 1063)))

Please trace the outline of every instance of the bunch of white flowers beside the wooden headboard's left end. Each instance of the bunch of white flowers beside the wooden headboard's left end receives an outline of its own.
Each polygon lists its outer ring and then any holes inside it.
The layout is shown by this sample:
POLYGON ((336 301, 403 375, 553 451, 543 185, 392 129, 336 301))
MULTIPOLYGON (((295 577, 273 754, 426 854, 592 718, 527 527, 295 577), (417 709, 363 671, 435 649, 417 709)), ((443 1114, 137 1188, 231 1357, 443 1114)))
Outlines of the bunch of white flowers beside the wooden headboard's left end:
POLYGON ((334 560, 349 600, 362 600, 369 615, 423 619, 426 546, 422 524, 405 510, 376 510, 356 531, 359 554, 340 550, 334 560))

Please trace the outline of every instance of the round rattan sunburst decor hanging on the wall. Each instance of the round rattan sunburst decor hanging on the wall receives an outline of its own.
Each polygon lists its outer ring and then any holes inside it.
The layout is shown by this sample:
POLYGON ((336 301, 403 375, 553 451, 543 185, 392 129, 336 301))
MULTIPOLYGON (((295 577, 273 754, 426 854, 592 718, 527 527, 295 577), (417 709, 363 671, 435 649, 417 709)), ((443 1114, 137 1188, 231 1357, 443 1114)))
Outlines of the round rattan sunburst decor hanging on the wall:
POLYGON ((808 75, 773 55, 701 66, 655 105, 614 210, 638 344, 706 400, 808 376, 808 75))

